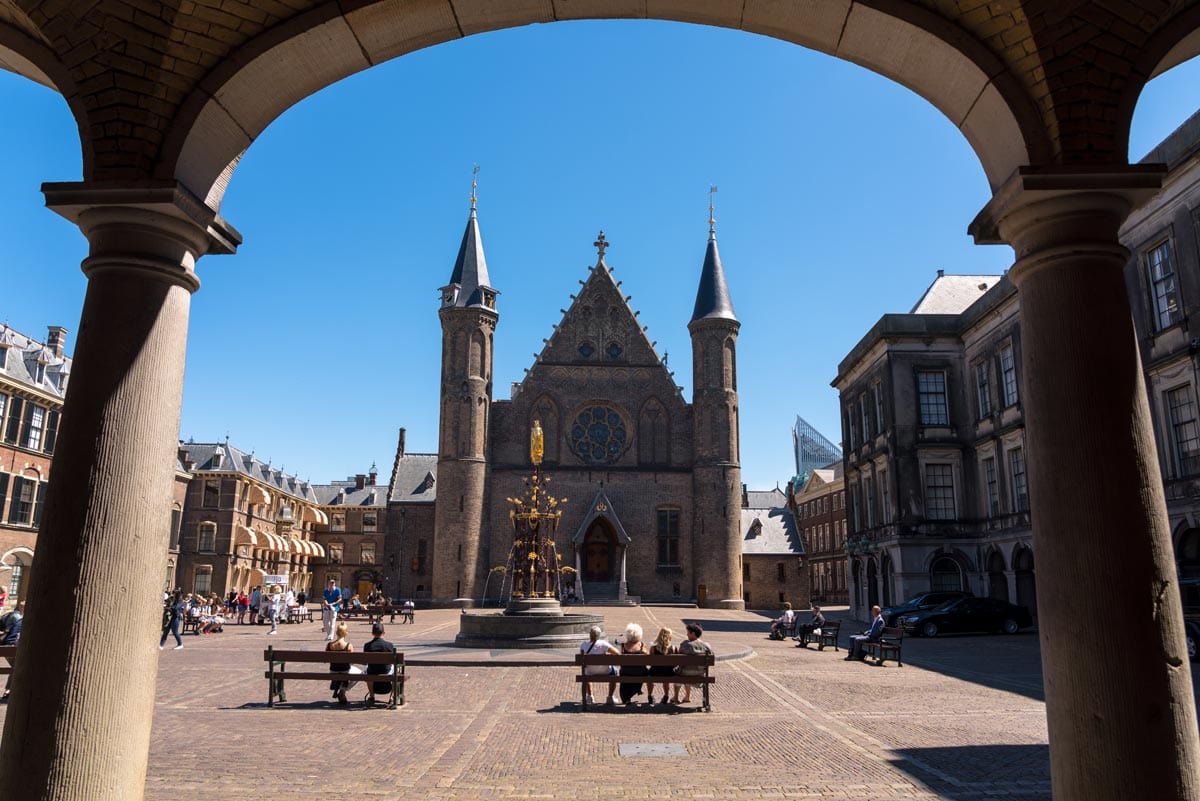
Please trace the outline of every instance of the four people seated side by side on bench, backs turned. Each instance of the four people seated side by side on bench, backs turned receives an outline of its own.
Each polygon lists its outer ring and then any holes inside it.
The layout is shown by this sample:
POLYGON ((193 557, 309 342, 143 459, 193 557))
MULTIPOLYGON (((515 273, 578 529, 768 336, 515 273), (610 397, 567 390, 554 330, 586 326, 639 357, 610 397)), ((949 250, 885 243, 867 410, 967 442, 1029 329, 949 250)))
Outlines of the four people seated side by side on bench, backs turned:
MULTIPOLYGON (((604 639, 604 630, 599 626, 593 626, 588 632, 588 640, 580 645, 580 654, 601 655, 601 654, 653 654, 656 656, 664 656, 666 654, 712 654, 713 649, 709 648, 708 643, 701 639, 704 630, 700 624, 686 624, 688 637, 685 640, 676 645, 672 642, 674 633, 670 628, 660 628, 659 636, 654 638, 653 645, 647 645, 642 642, 642 627, 637 624, 629 624, 625 626, 625 637, 622 642, 616 645, 604 639)), ((679 675, 703 675, 703 668, 679 668, 679 675)), ((604 664, 589 664, 584 668, 584 674, 589 676, 647 676, 646 682, 620 682, 619 697, 620 703, 629 705, 634 701, 637 695, 642 694, 643 687, 646 687, 646 703, 654 703, 654 686, 662 686, 662 694, 660 697, 659 704, 678 704, 679 691, 683 688, 683 703, 691 703, 691 685, 672 682, 671 676, 677 675, 674 668, 668 664, 665 666, 652 666, 649 668, 642 666, 622 666, 620 670, 614 666, 604 664), (672 693, 672 685, 674 692, 672 693), (667 695, 671 695, 670 698, 667 695)), ((596 683, 600 683, 602 679, 598 679, 596 683)), ((613 705, 617 703, 618 691, 616 681, 610 681, 608 683, 608 698, 605 704, 613 705)), ((588 704, 594 704, 595 699, 592 695, 592 682, 584 682, 583 692, 587 695, 588 704)))

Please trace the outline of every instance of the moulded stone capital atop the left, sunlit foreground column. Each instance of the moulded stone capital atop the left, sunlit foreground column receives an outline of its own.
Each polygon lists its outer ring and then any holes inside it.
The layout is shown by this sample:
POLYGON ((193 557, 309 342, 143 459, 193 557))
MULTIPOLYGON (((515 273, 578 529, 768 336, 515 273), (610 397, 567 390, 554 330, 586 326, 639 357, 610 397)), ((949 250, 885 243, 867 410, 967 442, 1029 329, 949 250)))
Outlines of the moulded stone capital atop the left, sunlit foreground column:
POLYGON ((230 254, 241 234, 176 181, 43 183, 46 205, 88 237, 83 271, 146 271, 196 291, 196 260, 230 254))

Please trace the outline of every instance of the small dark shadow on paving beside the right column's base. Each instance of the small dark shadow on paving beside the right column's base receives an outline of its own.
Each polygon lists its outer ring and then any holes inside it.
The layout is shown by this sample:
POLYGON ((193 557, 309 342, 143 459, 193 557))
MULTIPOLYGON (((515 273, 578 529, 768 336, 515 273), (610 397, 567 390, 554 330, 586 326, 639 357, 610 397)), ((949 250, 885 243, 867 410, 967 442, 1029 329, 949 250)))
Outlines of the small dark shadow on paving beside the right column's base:
POLYGON ((1015 788, 1006 782, 1006 799, 1050 799, 1050 746, 1044 743, 898 748, 892 753, 894 767, 947 799, 986 795, 996 776, 1024 777, 1015 788))

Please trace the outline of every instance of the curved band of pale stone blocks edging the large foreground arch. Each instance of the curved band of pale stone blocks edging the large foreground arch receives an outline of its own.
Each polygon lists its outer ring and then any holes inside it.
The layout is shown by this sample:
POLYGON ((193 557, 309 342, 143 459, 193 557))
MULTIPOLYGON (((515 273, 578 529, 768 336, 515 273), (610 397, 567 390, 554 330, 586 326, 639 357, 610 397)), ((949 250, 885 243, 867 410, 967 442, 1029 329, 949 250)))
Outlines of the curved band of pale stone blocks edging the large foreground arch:
MULTIPOLYGON (((559 19, 650 18, 601 0, 569 7, 518 0, 322 2, 234 49, 180 104, 155 177, 180 181, 218 209, 241 155, 280 114, 305 97, 383 61, 473 34, 559 19)), ((1046 159, 1049 139, 1026 88, 983 42, 914 4, 854 0, 804 4, 787 13, 744 0, 697 10, 666 0, 653 17, 744 30, 851 61, 916 91, 971 144, 989 183, 1046 159), (892 55, 871 42, 900 41, 892 55), (930 64, 936 66, 931 67, 930 64), (964 90, 958 77, 970 73, 964 90)))

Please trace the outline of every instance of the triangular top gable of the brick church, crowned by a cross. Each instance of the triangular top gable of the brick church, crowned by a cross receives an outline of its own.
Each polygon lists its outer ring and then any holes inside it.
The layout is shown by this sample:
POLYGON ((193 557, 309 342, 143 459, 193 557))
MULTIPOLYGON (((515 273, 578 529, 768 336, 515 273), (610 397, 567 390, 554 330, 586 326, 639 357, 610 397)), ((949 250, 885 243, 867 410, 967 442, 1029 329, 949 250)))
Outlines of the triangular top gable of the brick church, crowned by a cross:
POLYGON ((596 242, 600 258, 595 266, 589 267, 587 281, 546 341, 522 386, 534 378, 540 367, 563 365, 660 369, 674 384, 605 263, 604 249, 607 246, 601 231, 596 242))

